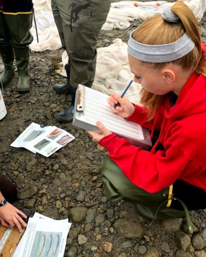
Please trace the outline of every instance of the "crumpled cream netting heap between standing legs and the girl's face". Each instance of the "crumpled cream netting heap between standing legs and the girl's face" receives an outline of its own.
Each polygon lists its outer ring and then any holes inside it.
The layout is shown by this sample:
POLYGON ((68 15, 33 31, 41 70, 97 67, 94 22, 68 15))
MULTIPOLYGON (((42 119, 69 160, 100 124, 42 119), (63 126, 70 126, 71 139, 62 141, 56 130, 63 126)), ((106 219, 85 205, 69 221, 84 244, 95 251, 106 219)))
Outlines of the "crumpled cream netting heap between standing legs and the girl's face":
MULTIPOLYGON (((62 54, 62 68, 57 73, 66 77, 64 65, 68 63, 66 51, 62 54)), ((96 73, 92 88, 110 95, 112 92, 121 94, 133 75, 130 71, 127 44, 116 38, 108 47, 97 49, 96 73)), ((141 85, 133 82, 125 96, 139 104, 141 85)))

